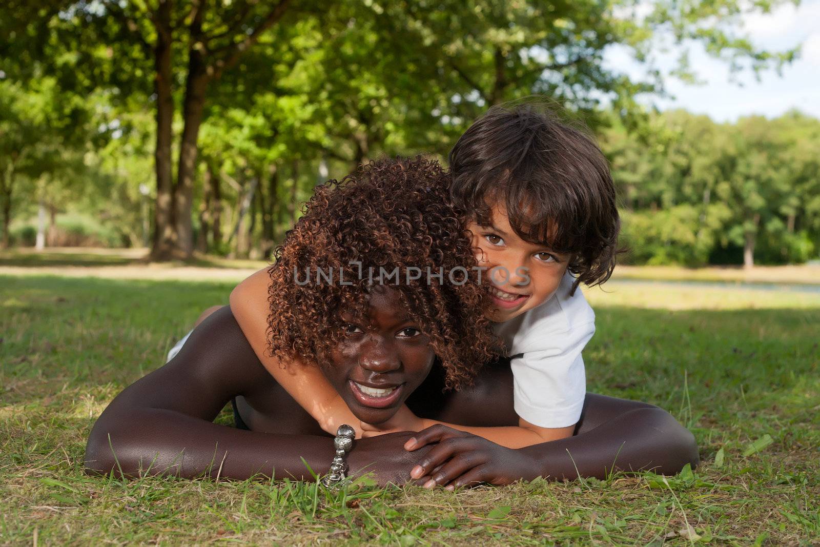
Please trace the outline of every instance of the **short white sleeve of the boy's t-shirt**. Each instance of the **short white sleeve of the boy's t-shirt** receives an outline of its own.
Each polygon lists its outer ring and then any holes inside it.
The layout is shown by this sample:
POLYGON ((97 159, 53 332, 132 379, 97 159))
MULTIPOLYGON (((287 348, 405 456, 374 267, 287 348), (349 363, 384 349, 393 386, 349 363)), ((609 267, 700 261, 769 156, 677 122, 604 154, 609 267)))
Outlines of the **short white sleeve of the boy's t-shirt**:
POLYGON ((510 361, 513 402, 519 417, 539 427, 574 426, 581 418, 586 376, 581 350, 595 332, 594 322, 550 336, 553 347, 525 351, 510 361))

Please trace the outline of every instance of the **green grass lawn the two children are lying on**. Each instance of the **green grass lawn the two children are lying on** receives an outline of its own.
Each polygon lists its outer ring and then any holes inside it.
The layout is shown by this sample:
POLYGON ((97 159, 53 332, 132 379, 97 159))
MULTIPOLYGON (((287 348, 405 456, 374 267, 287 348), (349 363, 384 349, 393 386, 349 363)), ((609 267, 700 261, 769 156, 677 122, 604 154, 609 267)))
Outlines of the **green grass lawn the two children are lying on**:
POLYGON ((667 408, 698 440, 701 465, 667 480, 454 494, 360 483, 330 495, 287 481, 86 476, 94 419, 231 286, 0 275, 0 545, 820 541, 820 293, 587 291, 590 391, 667 408))

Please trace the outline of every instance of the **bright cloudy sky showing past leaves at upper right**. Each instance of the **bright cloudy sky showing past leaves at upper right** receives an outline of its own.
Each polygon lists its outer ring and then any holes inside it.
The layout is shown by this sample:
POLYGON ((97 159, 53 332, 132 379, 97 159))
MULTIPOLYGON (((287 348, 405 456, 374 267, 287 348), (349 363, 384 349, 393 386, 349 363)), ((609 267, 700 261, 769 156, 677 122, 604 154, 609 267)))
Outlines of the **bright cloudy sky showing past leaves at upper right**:
MULTIPOLYGON (((786 66, 782 75, 765 71, 756 80, 749 71, 729 80, 728 65, 709 57, 699 46, 690 48, 690 66, 704 84, 685 84, 668 78, 666 89, 674 98, 649 98, 647 102, 665 110, 686 108, 708 114, 716 121, 735 121, 740 116, 779 116, 790 108, 820 117, 820 0, 804 0, 799 7, 787 3, 768 14, 744 16, 745 33, 758 46, 781 51, 802 44, 799 59, 786 66)), ((677 52, 659 56, 658 66, 669 68, 677 52)), ((645 71, 626 52, 613 48, 606 62, 619 71, 640 77, 645 71)))

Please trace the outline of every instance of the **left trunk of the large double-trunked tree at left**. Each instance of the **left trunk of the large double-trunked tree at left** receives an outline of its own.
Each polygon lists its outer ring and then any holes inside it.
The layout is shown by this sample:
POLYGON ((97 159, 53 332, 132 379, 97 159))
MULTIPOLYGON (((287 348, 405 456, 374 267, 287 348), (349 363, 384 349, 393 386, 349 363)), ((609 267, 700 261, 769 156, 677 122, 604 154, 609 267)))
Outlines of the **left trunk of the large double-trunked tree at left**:
POLYGON ((171 0, 159 0, 154 27, 154 92, 157 94, 157 144, 154 166, 157 171, 157 203, 154 207, 153 260, 171 258, 176 244, 174 221, 174 189, 171 173, 171 123, 174 119, 174 98, 171 87, 171 0))

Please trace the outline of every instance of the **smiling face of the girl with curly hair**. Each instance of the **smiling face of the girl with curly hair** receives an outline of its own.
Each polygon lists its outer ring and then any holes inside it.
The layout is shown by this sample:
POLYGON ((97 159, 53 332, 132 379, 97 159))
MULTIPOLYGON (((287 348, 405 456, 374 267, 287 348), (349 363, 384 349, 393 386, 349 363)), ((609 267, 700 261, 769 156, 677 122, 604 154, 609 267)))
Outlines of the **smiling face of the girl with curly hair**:
POLYGON ((376 286, 367 321, 342 314, 345 338, 321 369, 362 422, 386 422, 421 385, 435 353, 404 307, 399 292, 376 286))

